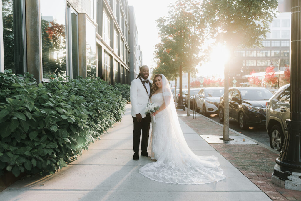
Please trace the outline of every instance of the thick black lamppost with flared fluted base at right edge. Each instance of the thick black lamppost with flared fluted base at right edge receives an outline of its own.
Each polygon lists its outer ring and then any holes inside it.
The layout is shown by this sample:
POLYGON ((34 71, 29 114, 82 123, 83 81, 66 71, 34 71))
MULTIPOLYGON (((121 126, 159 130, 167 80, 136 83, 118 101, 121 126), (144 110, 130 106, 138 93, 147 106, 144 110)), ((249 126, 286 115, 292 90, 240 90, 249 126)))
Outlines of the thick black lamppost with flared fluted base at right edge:
POLYGON ((286 120, 286 132, 282 150, 276 159, 272 183, 301 190, 301 0, 291 1, 291 72, 290 119, 286 120))

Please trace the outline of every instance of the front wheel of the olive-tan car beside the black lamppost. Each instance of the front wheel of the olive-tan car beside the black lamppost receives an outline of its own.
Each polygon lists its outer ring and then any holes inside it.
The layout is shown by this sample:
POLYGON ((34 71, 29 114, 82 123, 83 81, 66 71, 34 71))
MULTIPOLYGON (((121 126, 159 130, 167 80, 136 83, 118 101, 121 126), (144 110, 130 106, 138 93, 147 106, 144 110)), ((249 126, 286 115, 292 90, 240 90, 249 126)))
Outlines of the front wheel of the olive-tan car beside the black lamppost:
POLYGON ((284 134, 281 127, 274 125, 269 132, 269 136, 271 147, 277 151, 281 151, 284 142, 284 134))

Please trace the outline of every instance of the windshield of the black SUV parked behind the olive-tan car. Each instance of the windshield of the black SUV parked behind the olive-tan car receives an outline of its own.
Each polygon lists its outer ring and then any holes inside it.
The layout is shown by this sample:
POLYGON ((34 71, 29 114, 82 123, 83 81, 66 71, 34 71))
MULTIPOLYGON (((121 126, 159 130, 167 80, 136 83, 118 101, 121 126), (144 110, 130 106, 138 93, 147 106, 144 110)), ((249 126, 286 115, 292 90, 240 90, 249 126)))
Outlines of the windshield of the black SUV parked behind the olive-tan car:
POLYGON ((240 89, 243 100, 268 100, 273 93, 267 89, 240 89))

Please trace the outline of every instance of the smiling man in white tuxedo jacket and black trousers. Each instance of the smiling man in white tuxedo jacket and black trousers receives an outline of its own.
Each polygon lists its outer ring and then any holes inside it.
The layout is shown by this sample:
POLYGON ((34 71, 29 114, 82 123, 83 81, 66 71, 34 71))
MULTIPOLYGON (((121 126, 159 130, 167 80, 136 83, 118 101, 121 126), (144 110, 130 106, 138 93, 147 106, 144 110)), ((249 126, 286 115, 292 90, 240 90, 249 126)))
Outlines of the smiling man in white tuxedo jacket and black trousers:
POLYGON ((149 103, 151 96, 151 81, 147 79, 149 76, 149 68, 147 65, 140 67, 138 77, 132 81, 130 87, 130 99, 132 105, 132 118, 134 121, 133 132, 133 147, 134 147, 134 160, 139 160, 139 144, 140 133, 142 130, 141 139, 141 155, 147 155, 148 133, 151 125, 151 115, 145 115, 145 108, 149 103))

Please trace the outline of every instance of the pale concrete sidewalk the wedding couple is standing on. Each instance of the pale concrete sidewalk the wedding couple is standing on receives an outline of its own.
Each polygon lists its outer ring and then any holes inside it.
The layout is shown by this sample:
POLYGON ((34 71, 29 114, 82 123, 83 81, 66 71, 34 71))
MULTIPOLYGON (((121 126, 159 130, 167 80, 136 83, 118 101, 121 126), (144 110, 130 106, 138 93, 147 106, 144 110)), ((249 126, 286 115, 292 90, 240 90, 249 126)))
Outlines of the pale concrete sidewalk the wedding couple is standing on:
POLYGON ((271 200, 181 119, 180 124, 191 150, 218 157, 226 179, 180 185, 139 174, 139 168, 154 160, 144 156, 132 159, 133 124, 127 105, 122 122, 91 144, 82 158, 54 175, 17 181, 0 193, 0 200, 271 200))

